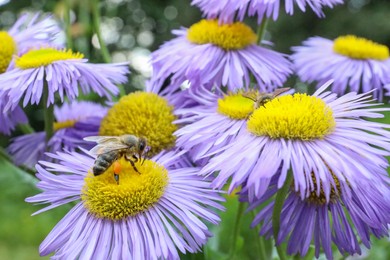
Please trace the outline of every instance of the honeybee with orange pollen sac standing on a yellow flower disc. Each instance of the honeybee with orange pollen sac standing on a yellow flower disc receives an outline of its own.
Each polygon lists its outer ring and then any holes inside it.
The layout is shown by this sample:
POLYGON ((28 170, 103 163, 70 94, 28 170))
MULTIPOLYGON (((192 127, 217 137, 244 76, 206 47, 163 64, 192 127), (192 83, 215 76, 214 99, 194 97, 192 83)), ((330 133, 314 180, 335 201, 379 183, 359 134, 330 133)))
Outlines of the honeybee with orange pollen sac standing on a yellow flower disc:
MULTIPOLYGON (((122 156, 131 163, 136 172, 140 173, 134 163, 142 159, 146 148, 146 139, 144 137, 136 137, 134 135, 89 136, 84 138, 84 140, 97 143, 90 150, 92 154, 97 155, 92 168, 93 175, 98 176, 102 174, 122 156)), ((114 165, 114 179, 118 184, 119 172, 120 166, 114 165)))

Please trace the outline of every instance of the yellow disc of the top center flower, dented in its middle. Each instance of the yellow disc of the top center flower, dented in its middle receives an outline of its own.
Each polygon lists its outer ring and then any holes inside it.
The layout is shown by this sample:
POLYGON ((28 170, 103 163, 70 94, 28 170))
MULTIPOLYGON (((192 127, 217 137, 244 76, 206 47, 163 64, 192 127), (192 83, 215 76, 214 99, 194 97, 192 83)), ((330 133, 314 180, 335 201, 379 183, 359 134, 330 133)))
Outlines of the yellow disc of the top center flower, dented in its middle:
POLYGON ((187 39, 195 44, 211 43, 225 50, 237 50, 256 43, 257 36, 240 22, 218 24, 217 20, 201 20, 188 29, 187 39))

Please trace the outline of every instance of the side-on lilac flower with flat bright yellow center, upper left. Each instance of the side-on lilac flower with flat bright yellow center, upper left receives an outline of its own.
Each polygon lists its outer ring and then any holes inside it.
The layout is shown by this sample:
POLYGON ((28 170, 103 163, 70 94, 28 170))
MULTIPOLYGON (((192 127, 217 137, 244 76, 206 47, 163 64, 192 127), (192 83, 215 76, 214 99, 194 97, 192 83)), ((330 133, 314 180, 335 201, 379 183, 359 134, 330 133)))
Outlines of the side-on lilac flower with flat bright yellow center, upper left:
POLYGON ((4 109, 15 108, 23 100, 38 104, 47 92, 47 106, 54 103, 54 94, 61 101, 64 96, 74 100, 79 86, 84 93, 95 92, 99 96, 111 98, 118 94, 114 84, 127 81, 129 69, 126 63, 91 64, 80 53, 71 50, 42 48, 31 50, 16 58, 15 68, 0 75, 2 97, 8 97, 4 109))

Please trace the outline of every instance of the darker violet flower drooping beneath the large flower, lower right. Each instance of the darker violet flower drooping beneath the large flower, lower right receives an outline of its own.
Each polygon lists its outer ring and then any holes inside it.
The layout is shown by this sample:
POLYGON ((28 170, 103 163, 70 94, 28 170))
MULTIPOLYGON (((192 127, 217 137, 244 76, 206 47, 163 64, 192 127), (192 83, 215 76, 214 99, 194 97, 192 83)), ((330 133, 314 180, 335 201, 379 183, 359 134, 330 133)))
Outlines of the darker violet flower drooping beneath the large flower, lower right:
MULTIPOLYGON (((300 172, 304 175, 304 172, 300 172)), ((312 178, 315 182, 315 179, 312 178)), ((324 192, 318 196, 312 192, 302 199, 291 187, 284 201, 280 215, 280 231, 276 244, 287 241, 287 253, 290 255, 307 254, 314 242, 315 255, 318 258, 321 248, 327 259, 333 259, 332 243, 340 253, 361 254, 360 243, 370 248, 370 234, 376 237, 388 236, 390 223, 389 179, 365 181, 353 189, 337 183, 331 190, 331 198, 326 201, 324 192)), ((278 191, 277 178, 259 200, 250 201, 249 210, 254 210, 278 191)), ((242 194, 242 200, 248 201, 248 194, 242 194)), ((261 208, 253 226, 261 223, 259 235, 269 238, 273 235, 272 213, 274 201, 261 208)))

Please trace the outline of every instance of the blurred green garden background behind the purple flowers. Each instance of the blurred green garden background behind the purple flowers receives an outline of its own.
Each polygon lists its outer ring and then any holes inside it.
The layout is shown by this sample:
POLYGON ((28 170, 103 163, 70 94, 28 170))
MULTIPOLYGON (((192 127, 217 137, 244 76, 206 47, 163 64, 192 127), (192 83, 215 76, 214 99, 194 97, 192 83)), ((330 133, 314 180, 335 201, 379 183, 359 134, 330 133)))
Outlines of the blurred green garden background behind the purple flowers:
MULTIPOLYGON (((290 47, 299 45, 310 36, 335 38, 343 34, 356 34, 390 46, 390 1, 346 0, 334 9, 326 9, 326 18, 319 19, 311 11, 297 11, 294 16, 281 13, 277 21, 270 21, 266 39, 275 43, 278 51, 290 53, 290 47)), ((52 12, 58 21, 63 20, 66 4, 71 7, 71 37, 74 49, 83 52, 93 62, 103 62, 96 35, 91 28, 91 9, 86 1, 51 0, 0 0, 0 29, 9 28, 21 12, 52 12)), ((172 29, 188 27, 201 18, 201 13, 190 6, 190 0, 107 0, 100 1, 101 32, 112 61, 131 62, 132 75, 126 91, 142 89, 150 75, 148 55, 164 41, 170 40, 172 29)), ((248 24, 255 26, 254 20, 248 24)), ((65 40, 65 35, 62 35, 65 40)), ((94 98, 94 97, 88 97, 94 98)), ((30 108, 28 115, 32 125, 43 127, 41 113, 30 108)), ((387 117, 386 121, 388 121, 387 117)), ((389 123, 389 122, 387 122, 389 123)), ((15 135, 20 134, 15 132, 15 135)), ((7 146, 9 139, 0 136, 0 145, 7 146)), ((50 210, 38 216, 30 215, 41 208, 24 202, 28 196, 38 193, 34 177, 26 175, 10 163, 0 160, 0 260, 40 259, 38 247, 53 226, 69 210, 70 206, 50 210)), ((236 203, 231 201, 229 203, 236 203)), ((234 210, 235 206, 229 208, 234 210)), ((234 212, 225 214, 232 218, 234 212)), ((231 227, 231 220, 223 222, 231 227), (230 223, 230 224, 229 224, 230 223)), ((246 217, 244 224, 249 224, 246 217)), ((221 229, 222 233, 225 232, 221 229)), ((248 230, 243 230, 248 232, 248 230)), ((211 243, 218 243, 212 240, 211 243)), ((390 259, 387 240, 374 243, 370 251, 372 259, 390 259)), ((244 249, 242 249, 244 250, 244 249)), ((253 252, 252 252, 253 253, 253 252)), ((251 259, 253 256, 247 256, 251 259)), ((218 259, 218 256, 215 256, 218 259)), ((341 258, 341 256, 336 256, 341 258)))

